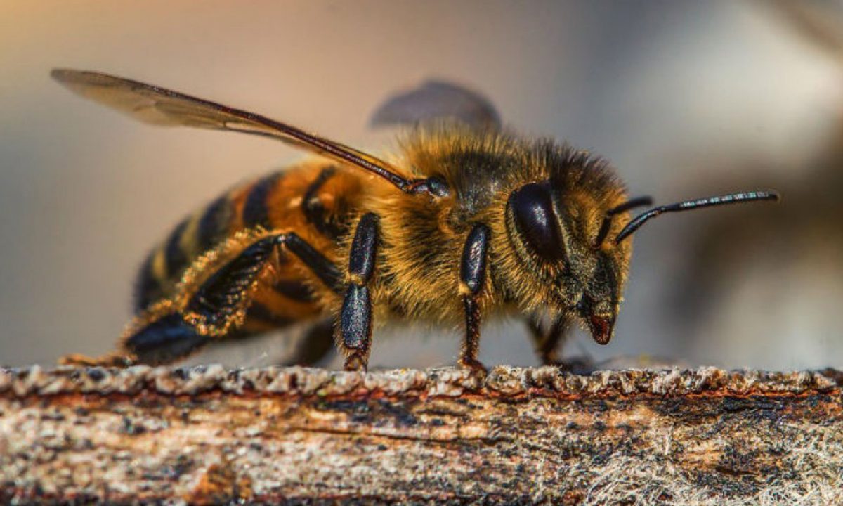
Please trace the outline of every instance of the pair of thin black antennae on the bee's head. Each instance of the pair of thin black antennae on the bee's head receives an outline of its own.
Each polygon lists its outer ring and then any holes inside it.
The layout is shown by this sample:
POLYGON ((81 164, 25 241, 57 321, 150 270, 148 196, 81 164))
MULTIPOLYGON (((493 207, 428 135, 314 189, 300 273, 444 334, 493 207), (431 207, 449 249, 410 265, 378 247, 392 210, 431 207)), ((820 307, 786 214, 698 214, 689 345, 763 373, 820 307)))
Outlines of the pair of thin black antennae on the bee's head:
MULTIPOLYGON (((629 223, 626 223, 626 226, 621 229, 620 232, 615 236, 615 244, 620 244, 622 240, 625 240, 631 234, 634 234, 637 229, 640 229, 644 223, 647 223, 647 221, 649 221, 651 218, 656 218, 661 213, 676 213, 678 211, 690 211, 692 209, 699 209, 701 207, 723 206, 726 204, 738 204, 742 202, 779 202, 780 200, 781 196, 779 196, 779 193, 775 190, 740 191, 738 193, 729 193, 728 195, 706 196, 705 198, 697 198, 683 202, 674 202, 673 204, 666 204, 664 206, 653 207, 652 209, 648 209, 644 213, 639 214, 635 218, 632 218, 629 223)), ((632 207, 647 206, 650 203, 651 201, 649 197, 642 196, 636 199, 632 199, 629 202, 620 204, 620 206, 609 209, 609 212, 606 213, 606 218, 604 218, 603 224, 600 227, 600 231, 597 235, 597 240, 595 240, 595 247, 599 247, 603 244, 603 241, 606 239, 606 235, 609 234, 611 220, 612 217, 615 216, 615 214, 628 211, 632 207)))

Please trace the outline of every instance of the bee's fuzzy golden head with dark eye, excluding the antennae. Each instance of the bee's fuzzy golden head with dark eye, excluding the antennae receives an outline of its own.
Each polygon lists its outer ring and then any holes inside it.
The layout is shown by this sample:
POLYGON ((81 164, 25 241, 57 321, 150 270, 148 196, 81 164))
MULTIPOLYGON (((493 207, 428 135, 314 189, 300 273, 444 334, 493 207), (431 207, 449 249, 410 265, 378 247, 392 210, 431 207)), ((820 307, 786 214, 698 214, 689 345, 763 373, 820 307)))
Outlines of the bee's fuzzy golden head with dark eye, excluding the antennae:
POLYGON ((526 183, 507 200, 518 272, 527 274, 523 284, 532 287, 518 290, 529 299, 524 305, 544 304, 532 309, 581 321, 600 344, 612 338, 631 256, 628 242, 604 244, 599 238, 612 229, 599 218, 606 215, 607 197, 622 199, 622 189, 607 187, 599 195, 563 191, 549 179, 526 183))

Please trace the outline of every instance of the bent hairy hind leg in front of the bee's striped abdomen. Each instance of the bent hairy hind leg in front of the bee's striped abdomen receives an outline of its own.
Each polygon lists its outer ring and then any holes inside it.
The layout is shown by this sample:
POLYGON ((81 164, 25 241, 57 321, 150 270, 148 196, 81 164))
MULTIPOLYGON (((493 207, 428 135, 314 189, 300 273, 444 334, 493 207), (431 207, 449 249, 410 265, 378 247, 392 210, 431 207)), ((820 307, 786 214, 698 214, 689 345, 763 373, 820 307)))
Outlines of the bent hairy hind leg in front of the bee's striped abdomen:
POLYGON ((295 233, 255 240, 238 256, 213 272, 183 304, 164 300, 132 322, 121 351, 101 358, 70 355, 60 363, 125 366, 159 364, 184 358, 207 342, 234 331, 244 323, 252 293, 278 248, 298 256, 328 287, 336 289, 340 271, 318 250, 295 233))

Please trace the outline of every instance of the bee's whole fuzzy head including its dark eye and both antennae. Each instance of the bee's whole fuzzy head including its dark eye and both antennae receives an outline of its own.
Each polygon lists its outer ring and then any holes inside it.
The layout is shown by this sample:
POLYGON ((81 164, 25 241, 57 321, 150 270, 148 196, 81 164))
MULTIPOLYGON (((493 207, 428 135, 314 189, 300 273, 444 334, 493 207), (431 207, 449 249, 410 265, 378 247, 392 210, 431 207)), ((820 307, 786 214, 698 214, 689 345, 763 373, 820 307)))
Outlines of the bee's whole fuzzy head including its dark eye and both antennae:
POLYGON ((609 178, 577 181, 565 184, 551 175, 509 194, 507 235, 518 260, 504 275, 516 280, 509 285, 526 309, 580 320, 600 344, 614 333, 632 254, 627 239, 644 223, 662 213, 779 200, 776 191, 744 191, 652 207, 631 219, 629 210, 649 206, 650 197, 626 200, 609 178))

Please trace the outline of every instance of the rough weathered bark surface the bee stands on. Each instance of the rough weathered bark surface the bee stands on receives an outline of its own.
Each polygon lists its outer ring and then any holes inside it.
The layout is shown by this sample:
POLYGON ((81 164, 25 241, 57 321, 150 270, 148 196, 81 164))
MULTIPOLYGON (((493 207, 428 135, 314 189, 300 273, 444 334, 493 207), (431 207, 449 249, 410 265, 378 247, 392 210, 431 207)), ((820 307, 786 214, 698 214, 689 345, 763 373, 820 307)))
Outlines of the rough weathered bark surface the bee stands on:
POLYGON ((0 500, 843 502, 843 375, 0 369, 0 500))

